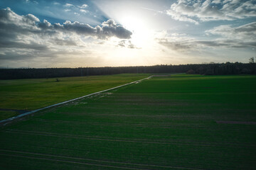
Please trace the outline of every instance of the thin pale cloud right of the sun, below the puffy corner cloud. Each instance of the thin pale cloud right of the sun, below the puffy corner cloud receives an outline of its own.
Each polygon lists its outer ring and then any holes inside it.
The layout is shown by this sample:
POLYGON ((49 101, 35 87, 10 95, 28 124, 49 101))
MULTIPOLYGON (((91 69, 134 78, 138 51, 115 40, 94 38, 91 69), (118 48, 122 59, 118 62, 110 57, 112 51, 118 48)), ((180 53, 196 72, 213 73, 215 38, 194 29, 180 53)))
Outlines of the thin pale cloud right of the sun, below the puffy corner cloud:
POLYGON ((256 47, 256 22, 248 23, 243 26, 233 27, 231 25, 223 25, 206 30, 207 35, 218 35, 218 38, 209 40, 191 38, 183 34, 162 33, 156 41, 160 45, 178 52, 203 51, 206 48, 213 49, 240 49, 256 47))

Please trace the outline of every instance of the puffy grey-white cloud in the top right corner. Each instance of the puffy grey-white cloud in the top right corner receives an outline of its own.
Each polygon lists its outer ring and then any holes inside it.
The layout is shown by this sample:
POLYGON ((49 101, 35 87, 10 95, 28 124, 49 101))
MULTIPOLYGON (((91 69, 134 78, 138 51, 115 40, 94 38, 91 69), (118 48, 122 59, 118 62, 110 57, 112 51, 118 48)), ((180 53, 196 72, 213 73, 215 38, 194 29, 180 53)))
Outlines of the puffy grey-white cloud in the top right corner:
POLYGON ((177 21, 191 23, 203 21, 235 20, 256 16, 256 1, 253 0, 178 0, 166 13, 177 21))

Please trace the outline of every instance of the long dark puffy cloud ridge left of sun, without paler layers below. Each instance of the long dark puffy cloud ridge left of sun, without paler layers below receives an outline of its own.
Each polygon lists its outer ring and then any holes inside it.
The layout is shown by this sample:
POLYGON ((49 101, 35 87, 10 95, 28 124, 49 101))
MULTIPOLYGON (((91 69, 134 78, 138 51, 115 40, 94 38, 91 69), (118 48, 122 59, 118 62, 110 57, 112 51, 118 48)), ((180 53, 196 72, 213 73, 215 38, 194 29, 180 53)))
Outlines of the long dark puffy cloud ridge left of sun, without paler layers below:
POLYGON ((27 33, 34 33, 42 35, 46 33, 77 33, 83 36, 93 36, 100 39, 110 37, 117 37, 121 39, 131 38, 132 32, 119 26, 114 20, 110 19, 102 23, 102 26, 92 27, 86 23, 79 23, 78 21, 65 23, 49 23, 46 20, 41 22, 36 16, 28 14, 26 16, 19 16, 11 11, 10 8, 0 10, 0 30, 2 35, 10 33, 18 35, 25 35, 27 33))

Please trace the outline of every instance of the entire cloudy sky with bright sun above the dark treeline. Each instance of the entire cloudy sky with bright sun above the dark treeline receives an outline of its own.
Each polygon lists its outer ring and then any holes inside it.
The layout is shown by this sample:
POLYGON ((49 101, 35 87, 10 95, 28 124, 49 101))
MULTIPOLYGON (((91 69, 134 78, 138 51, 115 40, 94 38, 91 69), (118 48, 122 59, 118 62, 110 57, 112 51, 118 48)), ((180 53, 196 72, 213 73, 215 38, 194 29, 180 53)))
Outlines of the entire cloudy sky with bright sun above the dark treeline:
POLYGON ((0 67, 249 62, 255 0, 1 0, 0 67))

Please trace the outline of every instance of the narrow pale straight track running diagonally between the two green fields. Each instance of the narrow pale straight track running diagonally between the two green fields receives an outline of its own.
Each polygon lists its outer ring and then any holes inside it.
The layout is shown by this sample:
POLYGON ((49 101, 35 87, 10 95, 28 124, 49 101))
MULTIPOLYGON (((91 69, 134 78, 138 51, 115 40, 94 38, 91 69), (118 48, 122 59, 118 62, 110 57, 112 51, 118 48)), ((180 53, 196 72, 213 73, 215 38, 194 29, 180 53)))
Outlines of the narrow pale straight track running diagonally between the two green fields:
POLYGON ((73 99, 68 100, 68 101, 63 101, 63 102, 56 103, 56 104, 53 104, 53 105, 50 105, 50 106, 46 106, 46 107, 43 107, 43 108, 38 108, 38 109, 33 110, 33 111, 28 111, 28 112, 26 112, 26 113, 22 113, 22 114, 20 114, 20 115, 16 115, 16 116, 11 117, 11 118, 7 118, 7 119, 4 119, 4 120, 0 120, 0 125, 6 125, 6 124, 8 124, 8 123, 11 123, 11 121, 13 121, 13 120, 16 120, 16 119, 18 119, 18 118, 22 118, 23 116, 26 116, 26 115, 31 115, 32 113, 36 113, 36 112, 38 112, 38 111, 42 111, 42 110, 44 110, 44 109, 46 109, 46 108, 53 108, 53 107, 55 107, 55 106, 60 106, 60 105, 63 105, 63 104, 65 104, 65 103, 69 103, 69 102, 71 102, 71 101, 76 101, 76 100, 79 100, 79 99, 81 99, 81 98, 86 98, 86 97, 88 97, 88 96, 92 96, 92 95, 95 95, 95 94, 101 94, 102 92, 110 91, 110 90, 113 90, 113 89, 117 89, 117 88, 120 88, 120 87, 122 87, 122 86, 127 86, 127 85, 129 85, 129 84, 137 84, 137 83, 139 83, 140 81, 143 81, 143 80, 145 80, 145 79, 151 79, 151 77, 154 77, 154 75, 152 75, 152 76, 150 76, 150 77, 146 77, 146 78, 144 78, 144 79, 137 80, 137 81, 132 81, 132 82, 130 82, 130 83, 123 84, 123 85, 120 85, 120 86, 115 86, 115 87, 112 87, 112 88, 110 88, 110 89, 106 89, 106 90, 102 90, 102 91, 97 91, 97 92, 95 92, 95 93, 87 94, 87 95, 85 95, 85 96, 81 96, 81 97, 78 97, 78 98, 73 98, 73 99))

